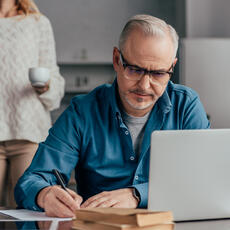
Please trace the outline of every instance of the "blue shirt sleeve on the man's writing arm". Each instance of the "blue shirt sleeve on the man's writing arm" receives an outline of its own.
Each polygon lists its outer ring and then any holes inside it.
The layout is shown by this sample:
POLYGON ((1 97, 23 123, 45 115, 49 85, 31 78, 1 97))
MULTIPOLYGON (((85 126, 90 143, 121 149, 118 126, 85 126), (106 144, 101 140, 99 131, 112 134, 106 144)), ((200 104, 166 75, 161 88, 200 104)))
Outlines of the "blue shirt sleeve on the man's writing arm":
POLYGON ((57 184, 53 169, 59 170, 68 183, 79 160, 81 134, 76 123, 82 122, 70 105, 49 130, 46 141, 39 144, 31 165, 15 187, 15 200, 20 208, 41 210, 36 198, 41 189, 57 184))

